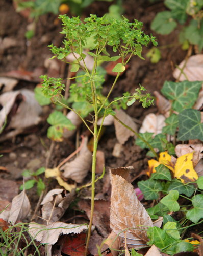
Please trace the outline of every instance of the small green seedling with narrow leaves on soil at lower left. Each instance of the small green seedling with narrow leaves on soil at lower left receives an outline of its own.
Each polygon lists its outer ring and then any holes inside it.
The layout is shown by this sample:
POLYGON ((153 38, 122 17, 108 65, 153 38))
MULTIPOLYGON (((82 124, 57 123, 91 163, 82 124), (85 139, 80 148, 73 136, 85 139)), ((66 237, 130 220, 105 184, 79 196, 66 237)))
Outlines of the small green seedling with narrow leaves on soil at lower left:
POLYGON ((39 168, 38 170, 36 170, 36 172, 31 172, 31 170, 24 170, 24 172, 22 172, 22 176, 31 179, 24 182, 24 184, 20 186, 20 190, 23 190, 23 188, 30 189, 36 184, 37 194, 40 196, 42 191, 45 189, 45 184, 43 180, 39 177, 39 175, 43 174, 44 172, 44 167, 39 168))

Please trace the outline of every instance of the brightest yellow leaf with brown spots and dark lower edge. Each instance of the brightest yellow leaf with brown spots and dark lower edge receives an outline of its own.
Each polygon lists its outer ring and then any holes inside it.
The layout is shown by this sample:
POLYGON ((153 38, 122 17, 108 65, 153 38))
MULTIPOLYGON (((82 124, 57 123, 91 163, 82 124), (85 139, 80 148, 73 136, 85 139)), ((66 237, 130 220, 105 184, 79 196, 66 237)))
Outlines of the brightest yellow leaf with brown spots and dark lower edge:
POLYGON ((183 183, 195 181, 198 179, 198 175, 193 168, 192 158, 193 152, 177 158, 174 176, 180 179, 183 183))

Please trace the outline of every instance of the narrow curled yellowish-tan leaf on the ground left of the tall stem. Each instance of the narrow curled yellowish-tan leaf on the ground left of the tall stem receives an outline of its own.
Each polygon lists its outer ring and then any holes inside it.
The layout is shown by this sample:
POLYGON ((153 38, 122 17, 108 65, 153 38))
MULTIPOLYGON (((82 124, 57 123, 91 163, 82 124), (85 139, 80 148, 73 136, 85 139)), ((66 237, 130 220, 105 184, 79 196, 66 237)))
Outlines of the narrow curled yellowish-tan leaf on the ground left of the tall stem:
POLYGON ((46 169, 45 177, 46 178, 55 178, 58 181, 59 185, 64 187, 68 191, 71 191, 73 188, 76 187, 75 184, 68 184, 61 178, 61 172, 58 168, 46 169))

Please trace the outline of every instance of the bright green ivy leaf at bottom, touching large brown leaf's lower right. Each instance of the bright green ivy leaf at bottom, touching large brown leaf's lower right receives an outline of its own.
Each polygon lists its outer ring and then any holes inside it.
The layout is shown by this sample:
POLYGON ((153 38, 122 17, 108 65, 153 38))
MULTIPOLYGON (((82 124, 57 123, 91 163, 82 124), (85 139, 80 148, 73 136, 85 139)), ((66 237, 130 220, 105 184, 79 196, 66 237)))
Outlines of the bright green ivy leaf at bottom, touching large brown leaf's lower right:
POLYGON ((159 227, 149 227, 147 229, 147 236, 149 238, 149 242, 147 244, 154 244, 160 249, 164 249, 176 241, 175 239, 168 236, 165 230, 162 230, 159 227))

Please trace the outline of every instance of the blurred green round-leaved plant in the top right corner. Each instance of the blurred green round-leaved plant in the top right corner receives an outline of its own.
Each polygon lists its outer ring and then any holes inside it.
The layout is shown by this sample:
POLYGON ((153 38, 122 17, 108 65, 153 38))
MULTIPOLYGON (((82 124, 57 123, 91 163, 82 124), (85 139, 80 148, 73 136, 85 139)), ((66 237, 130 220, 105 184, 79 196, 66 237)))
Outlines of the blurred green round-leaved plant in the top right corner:
POLYGON ((159 34, 166 35, 170 34, 179 23, 183 25, 179 34, 179 40, 183 48, 187 49, 191 44, 197 45, 199 51, 201 51, 203 48, 203 2, 201 0, 165 0, 164 4, 170 11, 159 12, 151 23, 151 29, 159 34), (188 21, 189 24, 186 23, 188 21))

